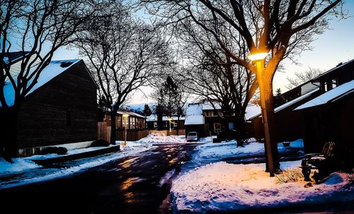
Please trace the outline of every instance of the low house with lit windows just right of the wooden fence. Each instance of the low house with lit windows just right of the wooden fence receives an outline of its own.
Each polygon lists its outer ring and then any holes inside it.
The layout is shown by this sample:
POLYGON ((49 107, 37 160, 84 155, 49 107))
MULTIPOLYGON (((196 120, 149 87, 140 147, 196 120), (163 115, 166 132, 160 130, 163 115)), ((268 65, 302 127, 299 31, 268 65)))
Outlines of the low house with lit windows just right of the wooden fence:
MULTIPOLYGON (((145 130, 146 129, 146 118, 140 114, 135 112, 127 112, 127 111, 117 111, 117 115, 115 116, 115 129, 123 130, 125 129, 125 121, 122 117, 123 114, 127 114, 127 130, 145 130)), ((103 122, 110 126, 111 118, 110 112, 105 112, 103 116, 103 122)))

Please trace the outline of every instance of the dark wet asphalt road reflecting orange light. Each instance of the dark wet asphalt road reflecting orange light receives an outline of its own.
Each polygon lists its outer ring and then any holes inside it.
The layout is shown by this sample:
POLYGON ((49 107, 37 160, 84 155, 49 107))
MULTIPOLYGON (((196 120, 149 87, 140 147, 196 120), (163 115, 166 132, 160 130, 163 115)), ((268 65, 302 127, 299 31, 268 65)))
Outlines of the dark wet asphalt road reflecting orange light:
POLYGON ((171 213, 171 177, 190 159, 194 147, 161 145, 72 176, 2 189, 1 210, 13 210, 8 213, 171 213))

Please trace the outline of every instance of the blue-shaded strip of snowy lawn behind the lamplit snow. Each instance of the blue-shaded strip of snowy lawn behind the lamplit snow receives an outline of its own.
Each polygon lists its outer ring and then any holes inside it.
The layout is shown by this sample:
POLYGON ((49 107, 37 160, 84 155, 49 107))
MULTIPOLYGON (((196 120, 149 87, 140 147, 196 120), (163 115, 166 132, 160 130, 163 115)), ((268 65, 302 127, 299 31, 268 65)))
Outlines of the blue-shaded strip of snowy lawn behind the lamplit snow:
MULTIPOLYGON (((289 148, 304 148, 302 139, 290 143, 289 148)), ((230 157, 247 157, 250 155, 264 155, 263 143, 248 143, 244 147, 237 147, 236 141, 227 143, 205 143, 195 148, 197 152, 193 155, 195 162, 202 160, 221 160, 230 157)), ((287 150, 282 143, 278 143, 279 153, 287 150)))

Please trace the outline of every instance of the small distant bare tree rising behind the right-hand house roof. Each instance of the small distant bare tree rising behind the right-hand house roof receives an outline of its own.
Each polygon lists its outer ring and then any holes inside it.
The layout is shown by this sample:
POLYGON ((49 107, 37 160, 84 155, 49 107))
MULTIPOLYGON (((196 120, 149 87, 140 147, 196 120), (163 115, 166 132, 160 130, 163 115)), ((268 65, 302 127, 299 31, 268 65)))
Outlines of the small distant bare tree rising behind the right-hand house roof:
POLYGON ((319 76, 321 73, 324 73, 325 70, 322 69, 314 69, 309 67, 307 71, 304 72, 295 72, 295 77, 287 77, 287 81, 289 82, 285 88, 287 89, 292 89, 296 87, 297 85, 300 85, 302 83, 305 83, 307 81, 311 81, 313 78, 316 76, 319 76))

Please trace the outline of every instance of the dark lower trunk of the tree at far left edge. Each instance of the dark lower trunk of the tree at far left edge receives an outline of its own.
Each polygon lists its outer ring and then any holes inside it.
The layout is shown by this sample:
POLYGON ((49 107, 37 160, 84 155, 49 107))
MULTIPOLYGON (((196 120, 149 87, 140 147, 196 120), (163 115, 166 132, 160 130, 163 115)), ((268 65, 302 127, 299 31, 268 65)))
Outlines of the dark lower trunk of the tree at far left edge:
POLYGON ((1 116, 1 155, 7 162, 13 162, 11 157, 17 157, 17 120, 18 108, 7 107, 0 111, 1 116))

